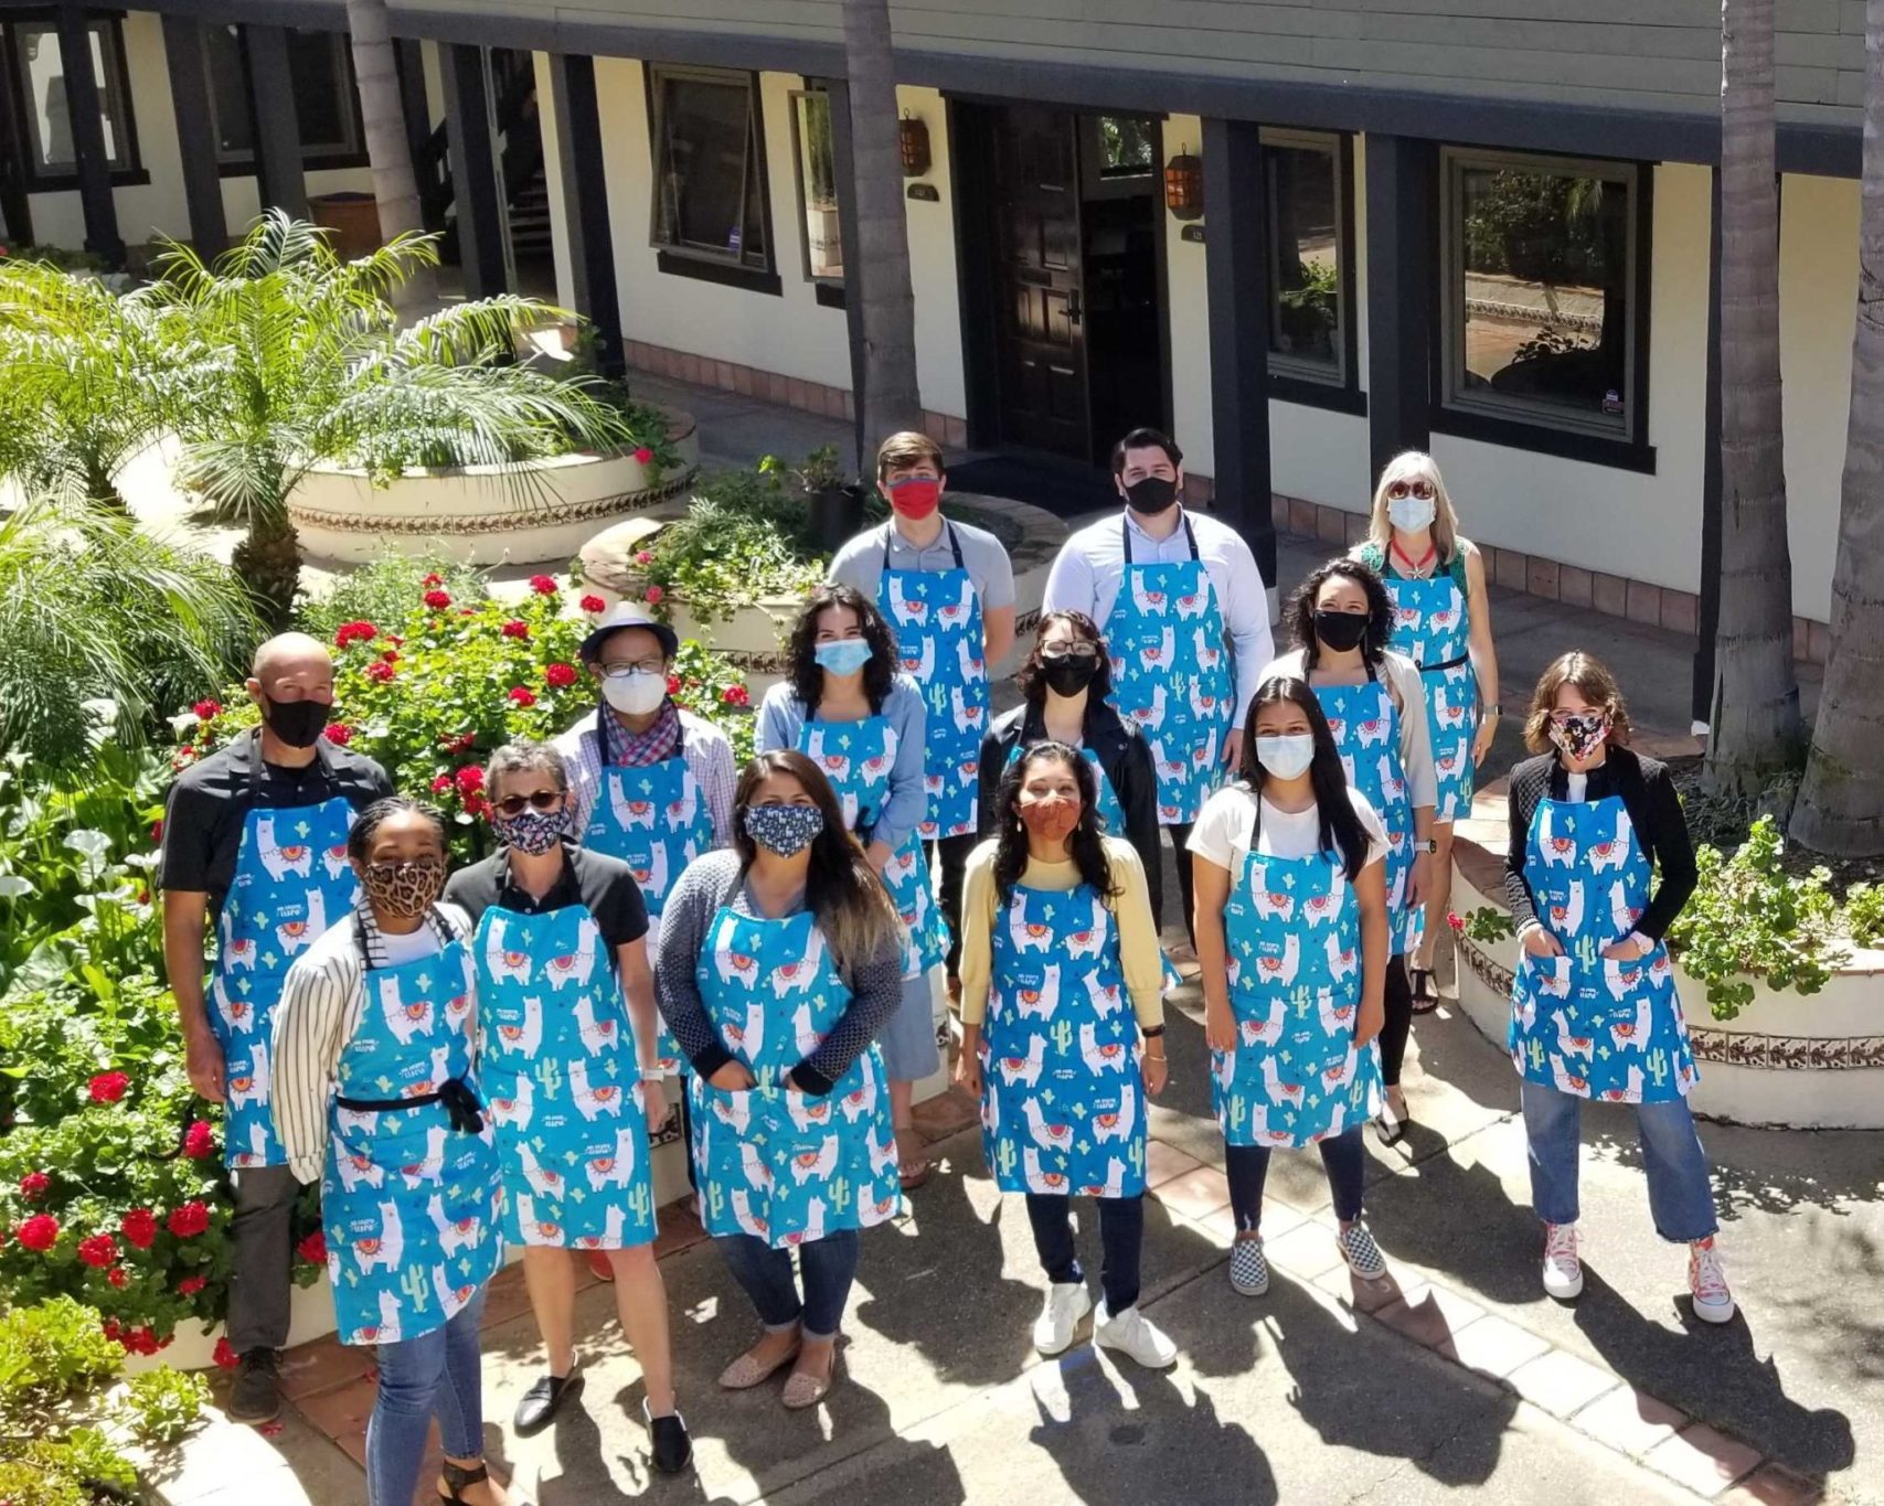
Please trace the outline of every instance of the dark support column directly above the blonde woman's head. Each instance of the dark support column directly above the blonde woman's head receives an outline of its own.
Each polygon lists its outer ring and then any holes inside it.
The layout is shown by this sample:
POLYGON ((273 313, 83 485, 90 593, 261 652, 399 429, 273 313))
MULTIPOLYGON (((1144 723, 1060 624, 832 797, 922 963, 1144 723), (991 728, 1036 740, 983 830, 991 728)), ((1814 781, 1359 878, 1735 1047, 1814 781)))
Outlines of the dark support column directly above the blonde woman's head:
POLYGON ((1404 136, 1368 151, 1368 482, 1432 444, 1432 301, 1439 265, 1439 151, 1404 136))

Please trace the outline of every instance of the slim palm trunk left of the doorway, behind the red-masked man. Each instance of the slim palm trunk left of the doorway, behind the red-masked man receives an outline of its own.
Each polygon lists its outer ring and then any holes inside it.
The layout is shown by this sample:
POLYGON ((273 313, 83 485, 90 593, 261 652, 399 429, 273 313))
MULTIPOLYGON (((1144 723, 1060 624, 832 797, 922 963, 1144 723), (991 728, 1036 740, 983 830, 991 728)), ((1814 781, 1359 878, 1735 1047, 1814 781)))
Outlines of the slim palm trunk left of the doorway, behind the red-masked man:
POLYGON ((857 401, 867 442, 874 444, 897 429, 919 429, 923 422, 889 0, 844 0, 844 56, 855 160, 855 181, 844 188, 857 196, 861 264, 852 296, 863 296, 863 392, 857 401))

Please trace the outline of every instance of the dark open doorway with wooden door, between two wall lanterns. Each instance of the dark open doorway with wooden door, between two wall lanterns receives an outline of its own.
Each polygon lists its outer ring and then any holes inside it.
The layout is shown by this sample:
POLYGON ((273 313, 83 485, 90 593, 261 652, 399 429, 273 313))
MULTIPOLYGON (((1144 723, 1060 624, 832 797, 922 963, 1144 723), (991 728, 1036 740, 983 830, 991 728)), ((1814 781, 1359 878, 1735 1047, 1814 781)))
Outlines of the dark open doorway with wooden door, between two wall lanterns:
POLYGON ((951 105, 968 439, 1089 469, 1170 420, 1161 128, 951 105))

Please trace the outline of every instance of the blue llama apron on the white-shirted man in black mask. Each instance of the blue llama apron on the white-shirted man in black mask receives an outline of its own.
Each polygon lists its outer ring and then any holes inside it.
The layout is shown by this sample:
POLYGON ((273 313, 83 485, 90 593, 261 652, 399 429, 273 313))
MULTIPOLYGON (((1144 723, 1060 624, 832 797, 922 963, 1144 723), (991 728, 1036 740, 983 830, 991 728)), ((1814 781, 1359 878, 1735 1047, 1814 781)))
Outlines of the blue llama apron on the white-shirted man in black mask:
POLYGON ((1112 704, 1138 723, 1159 776, 1159 825, 1196 821, 1223 779, 1223 745, 1236 715, 1232 653, 1210 570, 1185 518, 1189 559, 1132 563, 1125 533, 1125 576, 1106 616, 1112 704))

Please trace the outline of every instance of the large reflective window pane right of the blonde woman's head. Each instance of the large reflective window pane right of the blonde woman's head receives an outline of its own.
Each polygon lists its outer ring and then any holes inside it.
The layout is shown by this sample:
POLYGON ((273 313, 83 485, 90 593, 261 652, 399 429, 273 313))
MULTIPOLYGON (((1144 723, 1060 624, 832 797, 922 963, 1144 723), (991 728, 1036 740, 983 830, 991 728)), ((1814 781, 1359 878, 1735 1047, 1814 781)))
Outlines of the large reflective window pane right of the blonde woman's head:
POLYGON ((1564 171, 1458 169, 1458 395, 1543 403, 1622 425, 1628 192, 1564 171))

